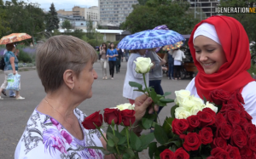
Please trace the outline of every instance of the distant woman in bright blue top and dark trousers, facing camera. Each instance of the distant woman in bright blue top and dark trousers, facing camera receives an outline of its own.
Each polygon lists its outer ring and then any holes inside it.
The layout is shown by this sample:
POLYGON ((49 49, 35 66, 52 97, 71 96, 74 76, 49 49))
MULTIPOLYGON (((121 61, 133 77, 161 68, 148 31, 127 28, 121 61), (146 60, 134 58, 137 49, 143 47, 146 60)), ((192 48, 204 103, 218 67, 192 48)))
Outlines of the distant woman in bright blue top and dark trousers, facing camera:
POLYGON ((116 57, 118 56, 117 50, 114 48, 114 44, 110 43, 109 48, 107 50, 107 57, 108 57, 108 65, 109 65, 109 74, 111 79, 113 79, 114 73, 114 65, 116 63, 116 57))

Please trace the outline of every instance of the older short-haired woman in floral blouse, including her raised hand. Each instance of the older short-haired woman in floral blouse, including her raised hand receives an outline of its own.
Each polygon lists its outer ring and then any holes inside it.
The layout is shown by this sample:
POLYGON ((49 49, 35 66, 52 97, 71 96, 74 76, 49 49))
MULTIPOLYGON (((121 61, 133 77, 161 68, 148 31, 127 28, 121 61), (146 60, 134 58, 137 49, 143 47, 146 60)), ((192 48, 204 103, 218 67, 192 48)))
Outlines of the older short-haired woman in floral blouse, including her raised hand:
MULTIPOLYGON (((50 37, 38 46, 37 71, 46 96, 27 122, 15 159, 113 157, 86 148, 107 144, 99 132, 83 128, 86 116, 77 108, 92 96, 92 83, 98 77, 93 69, 96 60, 94 48, 77 37, 50 37)), ((136 102, 135 116, 140 120, 152 99, 144 95, 136 102)))

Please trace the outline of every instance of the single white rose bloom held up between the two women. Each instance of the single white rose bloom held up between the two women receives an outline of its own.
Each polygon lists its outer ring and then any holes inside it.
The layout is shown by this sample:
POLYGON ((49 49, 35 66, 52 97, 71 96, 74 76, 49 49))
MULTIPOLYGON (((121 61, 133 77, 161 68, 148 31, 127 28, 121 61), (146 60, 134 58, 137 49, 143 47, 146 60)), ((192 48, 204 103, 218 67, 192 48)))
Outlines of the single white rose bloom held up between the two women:
POLYGON ((153 65, 151 63, 150 58, 143 58, 143 57, 138 57, 137 61, 134 61, 134 63, 136 64, 135 71, 141 74, 148 73, 148 71, 150 71, 151 66, 153 65))

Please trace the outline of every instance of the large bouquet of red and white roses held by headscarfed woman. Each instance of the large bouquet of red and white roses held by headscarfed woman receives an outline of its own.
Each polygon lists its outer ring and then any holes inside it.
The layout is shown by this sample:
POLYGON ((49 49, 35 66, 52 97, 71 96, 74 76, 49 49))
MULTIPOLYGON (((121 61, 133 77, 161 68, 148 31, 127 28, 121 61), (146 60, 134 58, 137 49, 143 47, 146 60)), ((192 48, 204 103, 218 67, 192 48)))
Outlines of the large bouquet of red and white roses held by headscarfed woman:
POLYGON ((214 90, 212 104, 197 102, 184 90, 176 95, 172 117, 155 127, 160 146, 150 143, 150 158, 256 159, 256 127, 238 91, 214 90), (178 150, 183 156, 175 156, 178 150))

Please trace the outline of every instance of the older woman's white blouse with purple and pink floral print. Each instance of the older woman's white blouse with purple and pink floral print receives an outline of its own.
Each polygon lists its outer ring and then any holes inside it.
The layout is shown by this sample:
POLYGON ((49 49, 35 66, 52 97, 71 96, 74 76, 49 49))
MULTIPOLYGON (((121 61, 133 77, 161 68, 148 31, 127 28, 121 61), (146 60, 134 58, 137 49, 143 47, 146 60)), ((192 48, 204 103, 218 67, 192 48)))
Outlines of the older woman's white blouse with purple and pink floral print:
POLYGON ((15 150, 15 159, 103 159, 102 150, 86 149, 88 146, 102 147, 99 131, 85 129, 81 122, 84 113, 75 109, 79 124, 84 133, 84 139, 79 140, 53 117, 33 111, 29 117, 24 133, 15 150))

